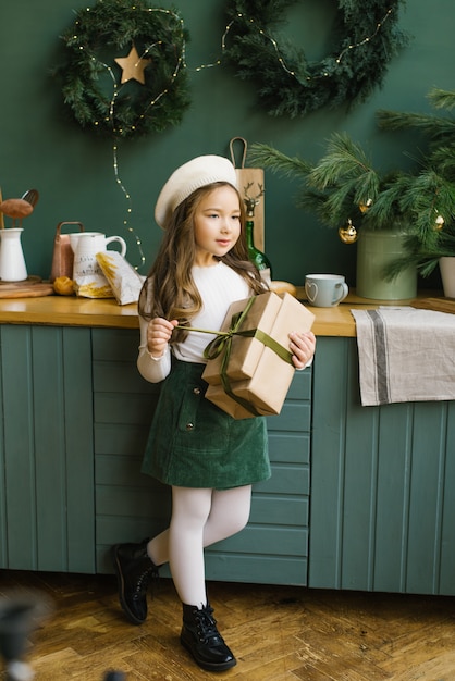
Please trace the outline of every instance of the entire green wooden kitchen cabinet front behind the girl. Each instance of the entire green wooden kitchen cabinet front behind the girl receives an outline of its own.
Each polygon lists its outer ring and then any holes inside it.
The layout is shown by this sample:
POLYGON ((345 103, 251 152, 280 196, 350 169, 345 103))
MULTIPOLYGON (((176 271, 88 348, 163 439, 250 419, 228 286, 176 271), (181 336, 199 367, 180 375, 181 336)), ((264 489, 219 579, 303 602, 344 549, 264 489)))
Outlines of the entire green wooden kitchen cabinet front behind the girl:
MULTIPOLYGON (((0 568, 108 573, 112 544, 168 525, 168 487, 140 473, 160 386, 137 343, 0 326, 0 568)), ((356 339, 320 336, 268 431, 272 478, 208 579, 455 595, 455 403, 361 407, 356 339)))

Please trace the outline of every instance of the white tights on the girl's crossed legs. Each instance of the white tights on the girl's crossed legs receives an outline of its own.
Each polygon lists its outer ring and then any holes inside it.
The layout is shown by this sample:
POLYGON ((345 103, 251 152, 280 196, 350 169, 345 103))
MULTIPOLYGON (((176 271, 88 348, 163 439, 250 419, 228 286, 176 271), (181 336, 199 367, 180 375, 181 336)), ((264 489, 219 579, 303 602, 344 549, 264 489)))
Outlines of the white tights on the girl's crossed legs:
POLYGON ((147 546, 155 565, 169 562, 182 600, 207 605, 204 548, 239 532, 248 522, 251 485, 231 490, 172 487, 168 530, 147 546))

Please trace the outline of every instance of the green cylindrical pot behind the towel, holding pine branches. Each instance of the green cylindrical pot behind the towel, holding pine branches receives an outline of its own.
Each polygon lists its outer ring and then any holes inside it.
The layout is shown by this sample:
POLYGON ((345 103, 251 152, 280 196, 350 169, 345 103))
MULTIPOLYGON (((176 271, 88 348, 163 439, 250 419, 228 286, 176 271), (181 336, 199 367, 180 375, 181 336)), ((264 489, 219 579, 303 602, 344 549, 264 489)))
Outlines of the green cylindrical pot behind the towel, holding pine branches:
POLYGON ((372 300, 404 300, 417 295, 417 270, 410 265, 393 280, 384 268, 405 255, 404 233, 394 230, 361 230, 357 240, 356 292, 372 300))

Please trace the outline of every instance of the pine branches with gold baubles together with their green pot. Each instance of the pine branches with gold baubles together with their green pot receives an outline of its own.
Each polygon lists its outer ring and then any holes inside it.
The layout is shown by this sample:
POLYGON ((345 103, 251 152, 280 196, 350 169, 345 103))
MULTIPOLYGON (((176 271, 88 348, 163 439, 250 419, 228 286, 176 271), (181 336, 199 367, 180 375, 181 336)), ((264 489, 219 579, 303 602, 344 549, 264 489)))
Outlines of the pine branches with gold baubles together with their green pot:
MULTIPOLYGON (((433 90, 433 107, 451 110, 455 92, 433 90)), ((434 114, 379 111, 380 127, 418 128, 428 139, 413 172, 382 173, 346 133, 334 133, 317 162, 288 157, 263 144, 251 156, 284 176, 300 179, 299 208, 357 243, 357 294, 413 298, 417 270, 428 275, 441 256, 455 256, 455 121, 434 114)))

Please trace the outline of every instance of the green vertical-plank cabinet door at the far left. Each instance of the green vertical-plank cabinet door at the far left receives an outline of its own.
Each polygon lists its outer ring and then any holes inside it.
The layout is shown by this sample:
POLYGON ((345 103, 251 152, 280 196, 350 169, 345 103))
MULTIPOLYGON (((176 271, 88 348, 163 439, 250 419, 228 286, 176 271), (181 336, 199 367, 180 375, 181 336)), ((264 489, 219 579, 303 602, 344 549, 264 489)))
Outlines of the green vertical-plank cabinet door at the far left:
POLYGON ((0 566, 93 572, 90 331, 2 325, 0 566))

